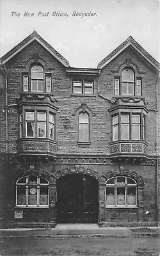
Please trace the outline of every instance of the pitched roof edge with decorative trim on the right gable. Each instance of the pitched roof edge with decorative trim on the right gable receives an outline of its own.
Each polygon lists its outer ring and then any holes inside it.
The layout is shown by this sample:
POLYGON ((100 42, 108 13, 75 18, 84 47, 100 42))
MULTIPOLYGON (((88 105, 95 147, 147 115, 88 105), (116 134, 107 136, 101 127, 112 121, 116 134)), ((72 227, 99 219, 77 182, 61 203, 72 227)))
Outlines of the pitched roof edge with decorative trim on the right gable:
POLYGON ((141 47, 138 42, 132 38, 132 36, 129 36, 127 40, 125 40, 122 44, 120 44, 113 52, 111 52, 106 58, 104 58, 102 61, 99 62, 98 68, 105 67, 111 60, 113 60, 120 52, 124 51, 127 47, 132 47, 142 58, 145 58, 145 60, 148 61, 153 67, 155 67, 158 71, 160 71, 160 64, 158 61, 156 61, 143 47, 141 47))

